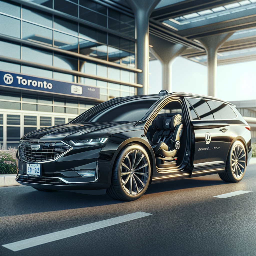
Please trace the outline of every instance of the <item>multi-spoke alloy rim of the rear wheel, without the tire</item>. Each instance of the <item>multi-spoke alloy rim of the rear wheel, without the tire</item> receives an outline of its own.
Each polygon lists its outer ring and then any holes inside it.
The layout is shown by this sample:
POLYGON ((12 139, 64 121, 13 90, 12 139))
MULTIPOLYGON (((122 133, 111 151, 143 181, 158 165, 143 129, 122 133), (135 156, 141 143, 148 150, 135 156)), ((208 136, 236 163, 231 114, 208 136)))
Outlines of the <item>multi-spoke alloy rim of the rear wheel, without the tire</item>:
POLYGON ((243 148, 240 145, 236 145, 233 148, 231 156, 231 168, 236 178, 240 178, 243 175, 246 165, 246 155, 243 148))

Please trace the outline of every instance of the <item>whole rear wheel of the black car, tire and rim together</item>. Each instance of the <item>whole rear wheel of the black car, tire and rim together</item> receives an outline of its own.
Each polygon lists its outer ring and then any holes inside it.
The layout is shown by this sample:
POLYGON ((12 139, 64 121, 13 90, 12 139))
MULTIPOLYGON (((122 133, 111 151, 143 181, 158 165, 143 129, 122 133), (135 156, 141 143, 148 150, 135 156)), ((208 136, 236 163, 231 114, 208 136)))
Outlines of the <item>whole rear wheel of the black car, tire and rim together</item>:
POLYGON ((239 182, 246 170, 246 150, 241 141, 235 141, 228 153, 226 169, 224 173, 219 173, 220 178, 225 182, 239 182))

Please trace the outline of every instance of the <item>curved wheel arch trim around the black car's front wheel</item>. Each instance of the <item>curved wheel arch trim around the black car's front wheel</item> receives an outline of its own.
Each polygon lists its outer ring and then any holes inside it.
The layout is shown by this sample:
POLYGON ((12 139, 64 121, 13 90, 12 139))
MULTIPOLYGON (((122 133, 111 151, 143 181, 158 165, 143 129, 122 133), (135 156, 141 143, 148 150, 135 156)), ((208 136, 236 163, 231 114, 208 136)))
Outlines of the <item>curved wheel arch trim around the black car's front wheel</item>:
POLYGON ((122 148, 124 146, 126 146, 127 144, 130 144, 130 143, 136 143, 136 144, 139 144, 141 145, 148 153, 148 156, 150 158, 150 164, 151 164, 151 177, 150 177, 150 183, 152 181, 152 175, 153 175, 153 172, 156 170, 156 158, 155 158, 155 154, 154 154, 154 151, 151 147, 151 145, 143 140, 142 138, 138 138, 138 137, 135 137, 135 138, 129 138, 125 141, 123 141, 119 147, 116 149, 112 159, 111 159, 111 162, 110 162, 110 167, 109 167, 109 177, 108 177, 108 183, 111 183, 111 178, 112 178, 112 169, 113 169, 113 166, 114 166, 114 163, 115 163, 115 160, 116 160, 116 157, 118 156, 119 152, 122 150, 122 148))

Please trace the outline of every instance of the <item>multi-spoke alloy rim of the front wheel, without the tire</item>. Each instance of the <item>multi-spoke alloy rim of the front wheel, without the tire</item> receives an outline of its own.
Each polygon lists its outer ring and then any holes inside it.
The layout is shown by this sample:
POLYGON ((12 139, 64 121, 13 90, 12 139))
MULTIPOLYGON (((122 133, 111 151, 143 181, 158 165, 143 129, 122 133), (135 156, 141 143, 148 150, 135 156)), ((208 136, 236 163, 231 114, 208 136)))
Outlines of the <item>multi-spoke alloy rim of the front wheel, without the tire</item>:
POLYGON ((120 178, 127 194, 136 195, 143 190, 148 179, 148 162, 142 152, 132 150, 125 155, 120 178))

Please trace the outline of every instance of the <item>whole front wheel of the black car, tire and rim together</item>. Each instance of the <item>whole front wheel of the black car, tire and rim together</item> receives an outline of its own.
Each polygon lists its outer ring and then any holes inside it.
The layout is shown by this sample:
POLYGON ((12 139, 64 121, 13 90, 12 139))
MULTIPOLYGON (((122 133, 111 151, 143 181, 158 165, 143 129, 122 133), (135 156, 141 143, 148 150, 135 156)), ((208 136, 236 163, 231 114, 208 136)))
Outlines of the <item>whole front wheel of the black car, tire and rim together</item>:
POLYGON ((146 192, 150 175, 150 158, 146 150, 138 144, 128 144, 115 159, 111 186, 106 193, 115 200, 136 200, 146 192))

